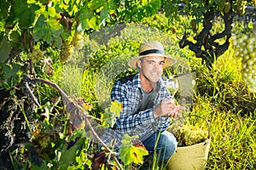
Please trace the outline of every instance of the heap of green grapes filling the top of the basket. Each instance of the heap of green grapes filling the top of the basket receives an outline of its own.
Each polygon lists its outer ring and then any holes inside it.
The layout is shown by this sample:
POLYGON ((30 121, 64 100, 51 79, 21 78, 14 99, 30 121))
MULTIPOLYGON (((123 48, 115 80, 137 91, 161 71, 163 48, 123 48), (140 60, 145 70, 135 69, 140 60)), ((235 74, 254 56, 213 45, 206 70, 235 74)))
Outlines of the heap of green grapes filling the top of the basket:
POLYGON ((170 132, 177 139, 178 146, 199 144, 207 140, 208 132, 199 127, 187 124, 174 124, 170 132))

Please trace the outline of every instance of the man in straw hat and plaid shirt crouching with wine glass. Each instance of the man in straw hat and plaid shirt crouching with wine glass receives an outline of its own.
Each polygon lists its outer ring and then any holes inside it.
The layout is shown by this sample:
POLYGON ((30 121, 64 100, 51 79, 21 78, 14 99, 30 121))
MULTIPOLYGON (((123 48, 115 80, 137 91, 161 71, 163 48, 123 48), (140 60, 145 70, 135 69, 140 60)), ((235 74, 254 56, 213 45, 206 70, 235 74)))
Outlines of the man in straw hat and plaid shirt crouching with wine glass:
POLYGON ((125 133, 138 135, 150 156, 154 147, 160 161, 168 161, 177 148, 177 141, 172 133, 166 131, 170 117, 179 116, 182 106, 175 105, 170 92, 164 86, 166 78, 162 77, 166 66, 173 65, 176 59, 165 55, 160 42, 144 42, 139 48, 139 56, 128 63, 138 69, 133 76, 121 78, 113 84, 111 99, 123 103, 123 111, 117 117, 113 128, 108 128, 104 142, 116 139, 115 147, 119 149, 125 133))

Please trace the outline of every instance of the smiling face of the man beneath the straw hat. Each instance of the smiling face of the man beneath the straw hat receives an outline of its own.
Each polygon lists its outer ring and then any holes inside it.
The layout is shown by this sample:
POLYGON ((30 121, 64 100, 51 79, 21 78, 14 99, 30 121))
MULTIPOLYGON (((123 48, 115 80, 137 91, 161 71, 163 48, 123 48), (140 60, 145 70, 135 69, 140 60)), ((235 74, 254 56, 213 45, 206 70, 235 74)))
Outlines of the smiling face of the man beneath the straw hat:
POLYGON ((141 72, 141 78, 146 82, 158 82, 163 74, 165 57, 148 56, 137 61, 137 66, 141 72))

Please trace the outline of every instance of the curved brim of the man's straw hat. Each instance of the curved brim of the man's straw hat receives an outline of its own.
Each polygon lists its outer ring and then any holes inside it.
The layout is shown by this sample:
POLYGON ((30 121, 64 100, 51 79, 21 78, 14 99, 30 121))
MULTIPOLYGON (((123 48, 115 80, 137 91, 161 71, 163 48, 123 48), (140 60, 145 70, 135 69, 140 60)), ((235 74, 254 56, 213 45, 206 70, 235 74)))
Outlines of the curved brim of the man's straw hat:
POLYGON ((174 59, 172 57, 166 56, 166 55, 162 55, 162 54, 148 54, 148 55, 139 55, 137 56, 137 58, 131 59, 128 62, 128 65, 133 68, 133 69, 137 69, 137 60, 142 59, 143 57, 148 57, 148 56, 159 56, 159 57, 165 57, 165 65, 164 67, 167 66, 171 66, 174 65, 177 62, 177 59, 174 59))

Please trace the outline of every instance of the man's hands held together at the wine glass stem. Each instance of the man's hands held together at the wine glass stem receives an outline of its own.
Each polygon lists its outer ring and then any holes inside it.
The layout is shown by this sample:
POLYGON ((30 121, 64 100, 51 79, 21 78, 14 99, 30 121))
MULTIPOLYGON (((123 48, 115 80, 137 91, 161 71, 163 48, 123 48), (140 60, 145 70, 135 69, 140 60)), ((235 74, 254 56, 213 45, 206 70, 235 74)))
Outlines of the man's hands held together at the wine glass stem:
POLYGON ((185 107, 175 105, 173 99, 164 99, 154 107, 154 118, 159 116, 178 117, 179 111, 185 111, 185 107))

